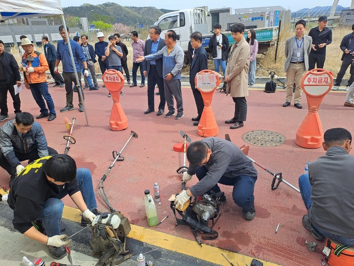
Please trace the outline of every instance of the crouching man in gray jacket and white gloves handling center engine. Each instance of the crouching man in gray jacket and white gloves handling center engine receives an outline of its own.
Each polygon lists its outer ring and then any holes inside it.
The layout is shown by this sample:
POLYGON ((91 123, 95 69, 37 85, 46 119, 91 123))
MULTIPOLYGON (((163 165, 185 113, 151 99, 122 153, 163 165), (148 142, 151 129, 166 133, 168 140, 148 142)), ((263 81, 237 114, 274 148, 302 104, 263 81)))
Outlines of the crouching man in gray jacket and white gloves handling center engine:
POLYGON ((234 186, 233 199, 242 208, 243 218, 253 220, 256 216, 254 206, 254 185, 257 170, 253 163, 231 141, 207 137, 192 142, 187 149, 189 167, 183 173, 187 182, 196 174, 199 182, 176 196, 176 208, 192 196, 209 194, 219 203, 225 203, 226 197, 219 184, 234 186))

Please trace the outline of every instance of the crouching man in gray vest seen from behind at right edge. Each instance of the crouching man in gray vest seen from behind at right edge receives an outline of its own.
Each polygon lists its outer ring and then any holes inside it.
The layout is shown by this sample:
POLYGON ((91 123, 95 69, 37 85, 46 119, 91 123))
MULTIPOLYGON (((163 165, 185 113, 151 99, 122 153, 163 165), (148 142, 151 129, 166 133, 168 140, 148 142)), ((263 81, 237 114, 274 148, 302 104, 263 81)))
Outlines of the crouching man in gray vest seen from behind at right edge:
POLYGON ((328 237, 354 246, 354 156, 349 155, 352 135, 346 129, 329 129, 322 145, 326 154, 312 162, 308 174, 299 178, 307 209, 302 225, 317 240, 328 237))

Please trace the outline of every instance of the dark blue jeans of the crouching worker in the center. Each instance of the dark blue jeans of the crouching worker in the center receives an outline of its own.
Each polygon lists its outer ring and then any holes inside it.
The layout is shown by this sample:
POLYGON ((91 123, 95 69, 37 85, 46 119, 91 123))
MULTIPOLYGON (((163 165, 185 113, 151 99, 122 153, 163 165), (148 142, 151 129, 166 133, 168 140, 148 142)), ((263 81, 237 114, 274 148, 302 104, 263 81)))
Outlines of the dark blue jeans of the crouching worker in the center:
MULTIPOLYGON (((195 168, 196 176, 199 180, 202 180, 207 175, 208 169, 206 166, 197 166, 195 168)), ((252 177, 248 175, 238 175, 236 177, 222 176, 218 183, 226 186, 234 186, 233 189, 233 199, 237 206, 242 208, 243 212, 248 212, 252 210, 254 205, 254 186, 257 177, 252 177)), ((205 193, 210 194, 211 191, 215 193, 220 192, 218 184, 215 184, 213 188, 205 193)))

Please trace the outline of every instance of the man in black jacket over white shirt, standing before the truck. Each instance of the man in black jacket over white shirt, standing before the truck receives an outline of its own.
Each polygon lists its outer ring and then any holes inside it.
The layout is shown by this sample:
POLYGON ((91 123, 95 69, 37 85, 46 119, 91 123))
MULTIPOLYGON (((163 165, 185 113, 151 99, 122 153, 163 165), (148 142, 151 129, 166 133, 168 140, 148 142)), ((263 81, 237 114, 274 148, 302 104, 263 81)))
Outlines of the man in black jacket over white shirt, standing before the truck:
POLYGON ((212 53, 215 72, 219 73, 219 67, 221 66, 223 76, 225 76, 226 61, 228 59, 229 39, 223 33, 220 33, 220 31, 221 25, 215 24, 214 34, 209 40, 209 50, 212 53))

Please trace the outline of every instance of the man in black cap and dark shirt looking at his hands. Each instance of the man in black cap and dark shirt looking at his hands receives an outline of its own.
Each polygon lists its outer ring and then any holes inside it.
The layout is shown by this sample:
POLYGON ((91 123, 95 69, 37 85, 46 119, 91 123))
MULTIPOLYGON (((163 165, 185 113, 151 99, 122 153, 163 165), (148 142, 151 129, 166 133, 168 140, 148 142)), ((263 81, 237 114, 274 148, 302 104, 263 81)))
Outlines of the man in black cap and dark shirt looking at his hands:
POLYGON ((312 49, 309 55, 309 70, 323 68, 325 61, 326 46, 332 42, 332 30, 327 26, 327 17, 321 16, 318 19, 318 26, 312 28, 309 36, 312 38, 312 49))

